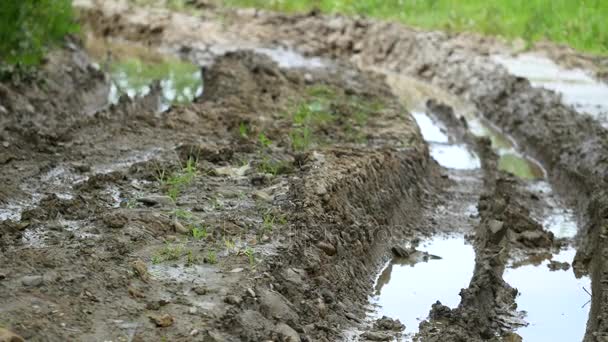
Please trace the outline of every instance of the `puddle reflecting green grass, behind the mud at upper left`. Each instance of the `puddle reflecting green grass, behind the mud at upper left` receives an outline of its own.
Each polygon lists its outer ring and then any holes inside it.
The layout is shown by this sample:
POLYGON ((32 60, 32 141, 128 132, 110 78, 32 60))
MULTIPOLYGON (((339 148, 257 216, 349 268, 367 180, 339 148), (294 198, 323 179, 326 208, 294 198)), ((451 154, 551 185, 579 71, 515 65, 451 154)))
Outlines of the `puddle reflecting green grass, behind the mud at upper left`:
POLYGON ((154 81, 160 82, 158 110, 172 104, 192 102, 203 93, 201 68, 175 57, 123 42, 110 42, 91 35, 87 52, 110 74, 109 103, 116 104, 121 95, 130 98, 150 93, 154 81))

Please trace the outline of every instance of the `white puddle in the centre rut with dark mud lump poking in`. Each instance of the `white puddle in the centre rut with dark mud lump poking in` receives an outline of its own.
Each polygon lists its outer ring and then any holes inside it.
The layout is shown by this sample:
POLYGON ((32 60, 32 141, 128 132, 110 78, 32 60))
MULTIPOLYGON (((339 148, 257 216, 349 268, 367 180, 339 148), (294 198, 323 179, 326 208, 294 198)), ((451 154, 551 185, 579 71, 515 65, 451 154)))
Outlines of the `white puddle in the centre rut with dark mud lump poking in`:
POLYGON ((378 277, 372 298, 372 303, 379 306, 379 316, 398 318, 408 333, 418 331, 437 300, 458 306, 458 294, 468 286, 475 262, 473 247, 462 237, 436 237, 417 249, 441 259, 394 259, 378 277))

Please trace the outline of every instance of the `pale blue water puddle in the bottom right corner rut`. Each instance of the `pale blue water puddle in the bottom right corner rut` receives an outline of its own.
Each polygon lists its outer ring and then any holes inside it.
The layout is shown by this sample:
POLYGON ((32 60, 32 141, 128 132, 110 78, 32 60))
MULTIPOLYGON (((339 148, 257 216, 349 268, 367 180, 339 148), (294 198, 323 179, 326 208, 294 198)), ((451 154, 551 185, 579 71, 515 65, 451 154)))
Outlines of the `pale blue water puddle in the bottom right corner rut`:
MULTIPOLYGON (((575 254, 570 248, 552 260, 571 263, 575 254)), ((505 281, 519 290, 518 310, 526 312, 529 323, 517 333, 524 341, 581 341, 589 314, 591 298, 585 290, 591 290, 590 279, 576 279, 572 268, 551 271, 548 264, 546 260, 505 271, 505 281)))

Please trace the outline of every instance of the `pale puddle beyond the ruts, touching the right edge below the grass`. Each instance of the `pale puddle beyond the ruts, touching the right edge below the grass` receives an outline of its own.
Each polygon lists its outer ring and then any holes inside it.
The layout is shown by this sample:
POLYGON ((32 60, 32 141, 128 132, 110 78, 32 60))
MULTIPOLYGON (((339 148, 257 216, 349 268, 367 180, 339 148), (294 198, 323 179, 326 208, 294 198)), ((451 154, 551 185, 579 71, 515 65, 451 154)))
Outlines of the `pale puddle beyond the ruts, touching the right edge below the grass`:
POLYGON ((493 56, 493 60, 511 74, 527 78, 535 87, 560 93, 565 104, 608 127, 608 85, 596 81, 585 71, 565 69, 548 58, 532 54, 493 56))

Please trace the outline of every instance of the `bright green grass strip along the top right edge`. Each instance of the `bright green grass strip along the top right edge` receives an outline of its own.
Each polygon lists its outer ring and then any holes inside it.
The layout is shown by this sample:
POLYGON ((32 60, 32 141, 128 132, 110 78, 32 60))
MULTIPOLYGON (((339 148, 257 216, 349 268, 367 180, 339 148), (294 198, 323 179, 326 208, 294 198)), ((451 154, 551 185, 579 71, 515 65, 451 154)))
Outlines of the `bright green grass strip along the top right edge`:
POLYGON ((426 29, 474 31, 529 44, 546 38, 592 53, 608 52, 606 0, 227 0, 232 6, 360 14, 426 29))

